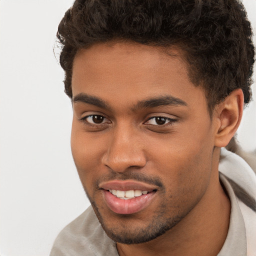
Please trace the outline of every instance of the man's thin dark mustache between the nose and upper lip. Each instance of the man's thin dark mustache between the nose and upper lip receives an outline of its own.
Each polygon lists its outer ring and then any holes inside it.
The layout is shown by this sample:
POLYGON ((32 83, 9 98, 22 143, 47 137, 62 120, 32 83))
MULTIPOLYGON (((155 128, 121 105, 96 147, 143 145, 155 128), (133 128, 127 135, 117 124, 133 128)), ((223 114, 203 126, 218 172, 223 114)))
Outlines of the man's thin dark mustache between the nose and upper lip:
POLYGON ((96 182, 97 187, 101 182, 105 182, 105 181, 111 181, 111 180, 128 180, 128 179, 132 179, 135 181, 141 181, 141 182, 145 182, 147 184, 151 184, 151 185, 156 185, 159 188, 164 189, 164 185, 163 182, 161 181, 161 179, 157 176, 149 176, 145 173, 141 173, 141 172, 134 172, 134 171, 125 171, 122 173, 118 173, 118 172, 110 172, 108 174, 102 175, 96 182))

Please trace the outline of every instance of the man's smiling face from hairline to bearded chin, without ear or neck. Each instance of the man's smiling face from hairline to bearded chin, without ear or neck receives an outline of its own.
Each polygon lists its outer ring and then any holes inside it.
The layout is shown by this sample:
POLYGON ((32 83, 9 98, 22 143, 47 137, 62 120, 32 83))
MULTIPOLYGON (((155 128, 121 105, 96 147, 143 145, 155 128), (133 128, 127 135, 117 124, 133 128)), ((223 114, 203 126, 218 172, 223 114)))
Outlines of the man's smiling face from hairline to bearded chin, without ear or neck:
POLYGON ((95 44, 73 62, 71 149, 110 238, 149 241, 182 221, 212 179, 213 125, 178 49, 95 44))

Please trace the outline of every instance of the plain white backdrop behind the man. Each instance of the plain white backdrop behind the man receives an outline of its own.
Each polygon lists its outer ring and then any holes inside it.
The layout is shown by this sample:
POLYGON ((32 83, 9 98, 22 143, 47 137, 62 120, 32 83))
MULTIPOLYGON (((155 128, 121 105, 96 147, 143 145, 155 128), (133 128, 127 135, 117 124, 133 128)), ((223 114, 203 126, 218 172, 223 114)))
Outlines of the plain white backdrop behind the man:
MULTIPOLYGON (((244 0, 256 33, 256 0, 244 0)), ((72 0, 0 0, 0 255, 45 256, 89 202, 70 151, 72 108, 54 57, 72 0)), ((255 41, 255 40, 254 40, 255 41)), ((256 94, 253 84, 254 99, 256 94)), ((238 140, 256 147, 256 103, 238 140)))

